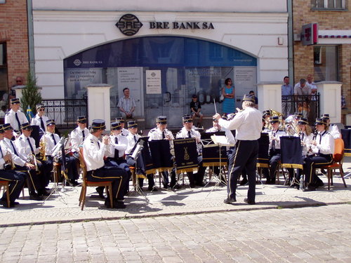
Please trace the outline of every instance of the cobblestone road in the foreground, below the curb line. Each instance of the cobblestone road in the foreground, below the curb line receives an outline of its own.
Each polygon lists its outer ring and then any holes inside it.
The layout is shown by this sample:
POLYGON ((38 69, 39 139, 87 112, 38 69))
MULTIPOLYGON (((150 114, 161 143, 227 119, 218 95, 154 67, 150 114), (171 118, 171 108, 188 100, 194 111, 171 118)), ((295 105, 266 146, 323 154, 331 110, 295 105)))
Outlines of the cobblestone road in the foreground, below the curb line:
POLYGON ((351 205, 1 228, 0 262, 351 262, 351 205))

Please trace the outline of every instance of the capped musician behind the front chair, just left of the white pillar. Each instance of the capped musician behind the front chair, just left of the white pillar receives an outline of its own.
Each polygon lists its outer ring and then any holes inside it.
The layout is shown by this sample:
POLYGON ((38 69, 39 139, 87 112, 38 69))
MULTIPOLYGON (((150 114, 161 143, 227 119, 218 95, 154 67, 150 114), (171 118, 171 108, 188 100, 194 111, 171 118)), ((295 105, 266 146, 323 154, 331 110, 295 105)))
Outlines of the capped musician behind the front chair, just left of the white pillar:
POLYGON ((72 130, 70 136, 72 154, 75 158, 79 159, 79 146, 83 145, 84 140, 89 135, 89 130, 86 128, 86 116, 77 117, 77 126, 77 128, 72 130))

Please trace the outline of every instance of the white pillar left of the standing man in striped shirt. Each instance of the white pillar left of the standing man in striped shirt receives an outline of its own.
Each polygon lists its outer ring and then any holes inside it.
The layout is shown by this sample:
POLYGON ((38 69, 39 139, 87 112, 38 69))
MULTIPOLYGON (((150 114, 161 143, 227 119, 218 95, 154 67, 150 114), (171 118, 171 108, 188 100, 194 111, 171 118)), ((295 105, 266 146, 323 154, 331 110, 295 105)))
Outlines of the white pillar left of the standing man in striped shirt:
POLYGON ((110 88, 112 86, 91 84, 85 88, 88 90, 88 126, 93 119, 103 119, 106 122, 106 130, 110 130, 110 88))

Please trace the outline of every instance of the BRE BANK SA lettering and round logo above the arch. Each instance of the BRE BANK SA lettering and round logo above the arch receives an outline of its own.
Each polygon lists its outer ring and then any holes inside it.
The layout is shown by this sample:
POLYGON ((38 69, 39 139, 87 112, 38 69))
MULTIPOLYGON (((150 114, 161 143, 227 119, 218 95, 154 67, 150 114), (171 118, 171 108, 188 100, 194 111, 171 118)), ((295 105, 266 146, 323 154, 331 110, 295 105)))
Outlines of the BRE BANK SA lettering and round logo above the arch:
MULTIPOLYGON (((143 23, 132 14, 123 15, 116 27, 126 36, 133 36, 143 27, 143 23)), ((149 22, 149 29, 215 29, 212 22, 149 22)))

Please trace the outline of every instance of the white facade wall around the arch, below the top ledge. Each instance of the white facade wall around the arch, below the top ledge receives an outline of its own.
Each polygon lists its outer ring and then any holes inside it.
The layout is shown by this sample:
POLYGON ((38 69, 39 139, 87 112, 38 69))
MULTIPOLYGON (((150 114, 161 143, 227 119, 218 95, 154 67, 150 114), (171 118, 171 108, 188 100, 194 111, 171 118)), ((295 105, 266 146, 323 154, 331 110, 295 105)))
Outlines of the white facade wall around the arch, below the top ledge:
MULTIPOLYGON (((40 3, 44 4, 44 2, 47 3, 47 1, 34 0, 34 4, 37 4, 34 7, 38 9, 41 7, 40 3)), ((81 1, 72 2, 75 5, 77 4, 76 2, 81 1)), ((120 3, 121 1, 116 2, 120 3)), ((152 3, 155 2, 152 1, 152 3)), ((194 2, 197 1, 191 1, 191 3, 194 2)), ((203 6, 210 5, 210 1, 201 2, 204 2, 203 6)), ((232 1, 221 2, 229 3, 232 1)), ((254 2, 258 3, 260 1, 254 2)), ((267 1, 264 2, 266 6, 267 1)), ((62 5, 66 1, 55 1, 55 3, 62 5)), ((84 6, 85 3, 86 1, 84 1, 84 6)), ((89 3, 86 4, 86 7, 90 6, 89 8, 93 8, 93 4, 90 1, 89 3)), ((94 3, 97 3, 97 1, 94 1, 94 3)), ((143 1, 143 6, 146 5, 145 3, 143 1)), ((214 6, 214 4, 211 5, 214 6)), ((242 5, 239 6, 243 7, 242 5)), ((103 5, 101 4, 101 6, 103 5)), ((147 2, 147 6, 149 6, 149 2, 147 2)), ((246 7, 249 6, 257 9, 251 1, 246 7)), ((258 6, 263 8, 263 4, 258 4, 258 6)), ((50 6, 46 6, 46 8, 50 9, 50 6)), ((138 17, 140 22, 143 22, 143 27, 133 37, 160 34, 190 36, 222 43, 255 56, 258 58, 257 82, 259 83, 265 81, 282 81, 283 76, 288 74, 288 15, 284 12, 276 13, 275 6, 272 6, 272 10, 273 13, 140 11, 130 11, 128 13, 133 13, 133 15, 138 17), (149 29, 148 22, 151 21, 212 22, 215 29, 149 29), (278 37, 282 37, 283 45, 278 45, 278 37)), ((92 46, 98 46, 109 41, 126 39, 126 36, 115 26, 116 22, 124 14, 126 12, 34 10, 35 67, 38 85, 43 87, 42 95, 44 98, 64 97, 64 58, 92 46)))

